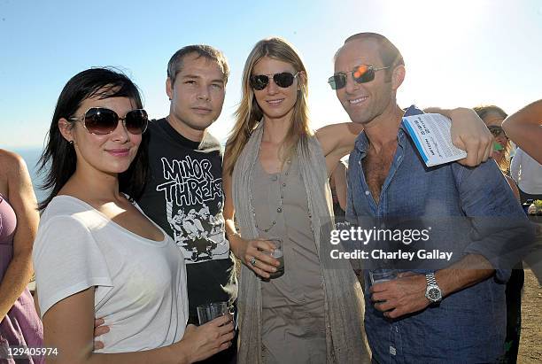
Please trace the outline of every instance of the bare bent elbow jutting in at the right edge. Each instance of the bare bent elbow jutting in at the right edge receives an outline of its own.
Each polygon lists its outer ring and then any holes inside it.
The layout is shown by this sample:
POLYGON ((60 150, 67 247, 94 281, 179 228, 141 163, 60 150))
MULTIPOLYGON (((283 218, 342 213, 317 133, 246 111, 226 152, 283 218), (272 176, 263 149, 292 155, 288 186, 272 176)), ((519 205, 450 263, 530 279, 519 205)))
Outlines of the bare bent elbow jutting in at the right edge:
POLYGON ((542 99, 508 116, 502 123, 507 136, 542 164, 542 99))

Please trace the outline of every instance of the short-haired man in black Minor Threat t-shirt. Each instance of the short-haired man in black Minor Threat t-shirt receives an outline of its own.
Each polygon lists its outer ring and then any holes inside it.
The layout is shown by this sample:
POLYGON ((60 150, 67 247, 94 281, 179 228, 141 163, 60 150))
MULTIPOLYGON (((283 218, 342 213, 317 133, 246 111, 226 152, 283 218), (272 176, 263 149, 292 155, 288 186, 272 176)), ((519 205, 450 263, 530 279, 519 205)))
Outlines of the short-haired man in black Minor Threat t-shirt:
MULTIPOLYGON (((197 323, 197 306, 218 301, 233 306, 236 299, 222 216, 221 145, 206 132, 221 114, 228 75, 220 50, 191 45, 175 52, 167 65, 169 115, 152 120, 147 131, 151 174, 137 202, 184 255, 190 323, 197 323)), ((234 343, 205 362, 235 359, 234 343)))

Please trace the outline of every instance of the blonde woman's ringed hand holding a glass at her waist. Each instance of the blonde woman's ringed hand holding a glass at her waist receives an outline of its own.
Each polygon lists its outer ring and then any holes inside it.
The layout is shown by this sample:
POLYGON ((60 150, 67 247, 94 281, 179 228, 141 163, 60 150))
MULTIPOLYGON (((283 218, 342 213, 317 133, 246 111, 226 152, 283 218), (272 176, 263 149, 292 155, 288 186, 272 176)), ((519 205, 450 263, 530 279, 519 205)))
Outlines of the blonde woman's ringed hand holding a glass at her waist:
POLYGON ((271 253, 275 250, 274 244, 264 239, 244 240, 241 236, 238 236, 238 239, 236 256, 246 267, 266 279, 270 277, 269 273, 276 272, 276 267, 280 265, 280 262, 271 257, 271 253))

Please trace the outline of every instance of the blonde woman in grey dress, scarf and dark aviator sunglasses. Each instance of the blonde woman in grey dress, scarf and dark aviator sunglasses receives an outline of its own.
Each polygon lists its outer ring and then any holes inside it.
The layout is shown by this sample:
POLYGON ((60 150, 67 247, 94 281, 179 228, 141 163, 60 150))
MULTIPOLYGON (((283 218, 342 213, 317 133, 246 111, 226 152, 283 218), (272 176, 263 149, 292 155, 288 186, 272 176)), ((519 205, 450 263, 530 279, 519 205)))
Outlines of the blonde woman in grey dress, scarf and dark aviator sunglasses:
MULTIPOLYGON (((329 244, 320 237, 322 218, 332 215, 329 174, 360 127, 343 123, 313 133, 306 68, 280 38, 254 46, 242 89, 222 181, 230 246, 244 263, 238 361, 369 362, 360 283, 348 262, 322 265, 329 244), (272 236, 283 240, 285 271, 268 279, 279 264, 268 255, 272 236)), ((468 133, 479 135, 476 128, 468 133)), ((487 145, 481 147, 482 156, 487 145)))

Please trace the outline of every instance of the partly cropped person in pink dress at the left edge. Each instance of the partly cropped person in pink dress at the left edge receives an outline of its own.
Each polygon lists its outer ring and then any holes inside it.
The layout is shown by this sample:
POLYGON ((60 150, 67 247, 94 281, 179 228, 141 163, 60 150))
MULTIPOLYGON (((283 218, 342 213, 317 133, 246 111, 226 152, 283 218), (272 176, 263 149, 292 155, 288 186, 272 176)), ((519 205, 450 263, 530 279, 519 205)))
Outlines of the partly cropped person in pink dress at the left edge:
MULTIPOLYGON (((27 289, 33 274, 32 247, 40 220, 36 207, 24 160, 0 149, 0 359, 7 357, 4 355, 8 346, 43 346, 42 321, 27 289)), ((31 364, 42 363, 43 357, 27 360, 31 364)))

